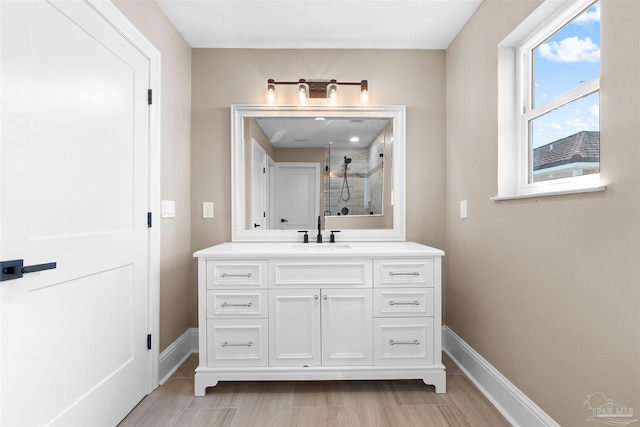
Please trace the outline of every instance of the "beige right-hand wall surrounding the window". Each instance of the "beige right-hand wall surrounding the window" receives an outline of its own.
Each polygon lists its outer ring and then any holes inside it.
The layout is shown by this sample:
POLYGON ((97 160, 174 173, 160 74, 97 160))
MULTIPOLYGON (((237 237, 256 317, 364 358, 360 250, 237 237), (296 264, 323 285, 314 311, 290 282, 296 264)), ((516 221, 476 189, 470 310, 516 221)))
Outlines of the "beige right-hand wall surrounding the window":
POLYGON ((606 192, 493 202, 497 44, 539 3, 485 0, 447 50, 446 324, 578 426, 590 393, 640 408, 640 2, 602 1, 606 192))

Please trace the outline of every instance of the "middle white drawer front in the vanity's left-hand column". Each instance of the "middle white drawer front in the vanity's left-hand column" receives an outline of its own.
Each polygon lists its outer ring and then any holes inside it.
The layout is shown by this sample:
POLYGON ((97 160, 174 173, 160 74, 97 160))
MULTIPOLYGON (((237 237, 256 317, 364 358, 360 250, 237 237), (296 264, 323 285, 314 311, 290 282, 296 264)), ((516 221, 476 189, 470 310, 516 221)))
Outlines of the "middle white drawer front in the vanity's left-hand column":
POLYGON ((267 318, 267 291, 207 291, 207 318, 267 318))

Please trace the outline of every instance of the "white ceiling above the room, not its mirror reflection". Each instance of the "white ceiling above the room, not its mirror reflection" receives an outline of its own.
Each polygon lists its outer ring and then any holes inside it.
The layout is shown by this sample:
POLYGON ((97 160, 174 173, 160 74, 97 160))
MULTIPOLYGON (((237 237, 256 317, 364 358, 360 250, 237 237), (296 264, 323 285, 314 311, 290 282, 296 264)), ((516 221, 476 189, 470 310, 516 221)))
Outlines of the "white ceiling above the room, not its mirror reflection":
POLYGON ((446 49, 482 0, 157 0, 194 48, 446 49))

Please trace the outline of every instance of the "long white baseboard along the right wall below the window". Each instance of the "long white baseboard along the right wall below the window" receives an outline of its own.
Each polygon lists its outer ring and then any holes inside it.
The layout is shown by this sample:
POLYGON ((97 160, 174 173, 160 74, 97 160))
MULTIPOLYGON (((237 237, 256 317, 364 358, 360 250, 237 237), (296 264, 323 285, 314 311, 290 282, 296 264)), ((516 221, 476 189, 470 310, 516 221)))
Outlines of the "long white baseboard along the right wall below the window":
POLYGON ((549 415, 447 326, 442 327, 444 352, 514 426, 559 427, 549 415))

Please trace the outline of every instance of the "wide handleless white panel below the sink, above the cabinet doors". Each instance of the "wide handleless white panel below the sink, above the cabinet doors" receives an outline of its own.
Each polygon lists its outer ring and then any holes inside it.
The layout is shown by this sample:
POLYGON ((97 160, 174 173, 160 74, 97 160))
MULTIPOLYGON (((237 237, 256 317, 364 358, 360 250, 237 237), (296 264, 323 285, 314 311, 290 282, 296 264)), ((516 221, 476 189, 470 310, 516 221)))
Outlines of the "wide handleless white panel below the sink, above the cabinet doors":
POLYGON ((322 288, 369 288, 372 284, 371 260, 290 260, 270 265, 274 287, 313 286, 322 288))

